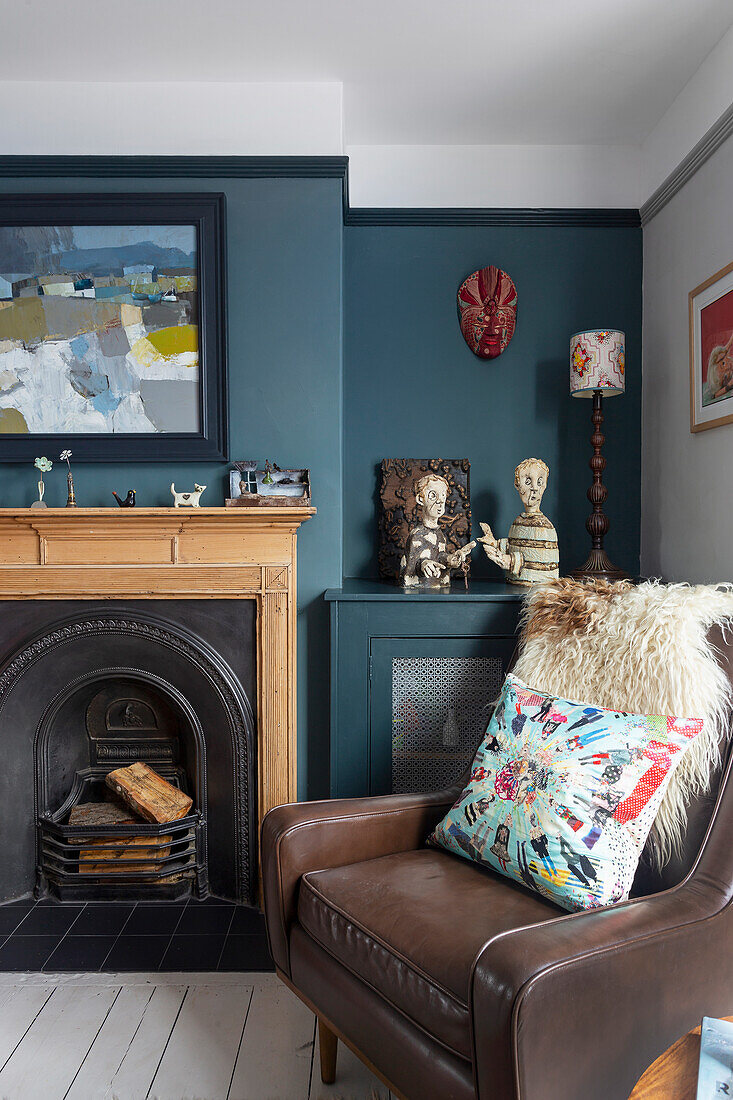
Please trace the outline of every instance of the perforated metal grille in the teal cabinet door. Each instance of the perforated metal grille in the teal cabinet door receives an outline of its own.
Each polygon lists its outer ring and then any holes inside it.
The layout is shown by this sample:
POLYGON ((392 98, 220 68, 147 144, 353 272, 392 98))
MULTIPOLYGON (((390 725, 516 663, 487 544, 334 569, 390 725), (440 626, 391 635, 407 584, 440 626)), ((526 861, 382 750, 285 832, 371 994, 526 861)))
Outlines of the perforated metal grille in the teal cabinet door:
POLYGON ((392 790, 450 785, 473 759, 503 682, 497 657, 392 659, 392 790))

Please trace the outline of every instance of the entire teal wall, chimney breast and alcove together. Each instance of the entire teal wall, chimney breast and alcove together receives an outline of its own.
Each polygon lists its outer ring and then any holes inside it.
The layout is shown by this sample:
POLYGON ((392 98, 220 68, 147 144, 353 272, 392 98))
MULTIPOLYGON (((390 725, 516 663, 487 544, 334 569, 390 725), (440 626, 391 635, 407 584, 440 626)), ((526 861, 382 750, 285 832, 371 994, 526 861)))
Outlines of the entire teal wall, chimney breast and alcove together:
MULTIPOLYGON (((584 558, 590 404, 567 392, 568 338, 584 327, 614 326, 628 338, 628 392, 606 403, 608 544, 620 564, 637 568, 641 230, 344 230, 340 179, 0 179, 0 190, 227 195, 230 455, 309 466, 318 507, 299 535, 300 796, 328 792, 322 592, 344 575, 376 574, 382 458, 470 458, 474 517, 505 534, 517 512, 514 465, 539 454, 553 468, 546 512, 564 563, 584 558), (486 263, 505 267, 519 295, 516 334, 493 363, 466 346, 455 305, 461 279, 486 263)), ((140 505, 167 505, 174 480, 205 482, 207 504, 227 495, 226 463, 74 469, 81 505, 109 505, 112 488, 128 487, 140 505)), ((4 464, 0 506, 30 504, 35 480, 30 464, 4 464)), ((46 485, 47 503, 64 504, 63 471, 46 485)), ((475 562, 477 575, 495 575, 475 562)))

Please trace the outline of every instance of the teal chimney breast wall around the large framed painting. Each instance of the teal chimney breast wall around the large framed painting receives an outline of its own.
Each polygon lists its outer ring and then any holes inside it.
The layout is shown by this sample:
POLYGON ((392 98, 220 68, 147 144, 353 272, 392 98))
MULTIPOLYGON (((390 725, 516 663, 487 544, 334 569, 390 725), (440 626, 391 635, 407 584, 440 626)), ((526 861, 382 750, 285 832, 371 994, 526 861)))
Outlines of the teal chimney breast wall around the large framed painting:
MULTIPOLYGON (((339 179, 7 179, 15 191, 180 191, 227 195, 229 424, 232 459, 309 466, 318 516, 299 535, 299 790, 328 789, 328 617, 321 593, 341 580, 341 275, 339 179)), ((70 443, 73 448, 73 443, 70 443)), ((56 459, 57 455, 50 455, 56 459)), ((74 464, 80 505, 114 504, 111 490, 138 491, 139 505, 169 505, 171 482, 194 479, 204 503, 227 494, 226 463, 74 464)), ((4 464, 0 505, 35 497, 30 463, 4 464)), ((61 466, 46 502, 66 503, 61 466)))

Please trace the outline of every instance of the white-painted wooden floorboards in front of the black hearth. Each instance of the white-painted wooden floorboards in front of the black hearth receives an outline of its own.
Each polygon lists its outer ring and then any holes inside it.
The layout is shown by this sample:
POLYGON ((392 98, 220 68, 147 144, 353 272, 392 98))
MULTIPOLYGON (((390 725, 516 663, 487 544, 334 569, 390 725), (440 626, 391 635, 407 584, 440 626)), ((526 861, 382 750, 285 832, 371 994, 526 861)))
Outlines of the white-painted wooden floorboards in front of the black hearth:
POLYGON ((0 974, 0 1100, 390 1100, 274 975, 0 974))

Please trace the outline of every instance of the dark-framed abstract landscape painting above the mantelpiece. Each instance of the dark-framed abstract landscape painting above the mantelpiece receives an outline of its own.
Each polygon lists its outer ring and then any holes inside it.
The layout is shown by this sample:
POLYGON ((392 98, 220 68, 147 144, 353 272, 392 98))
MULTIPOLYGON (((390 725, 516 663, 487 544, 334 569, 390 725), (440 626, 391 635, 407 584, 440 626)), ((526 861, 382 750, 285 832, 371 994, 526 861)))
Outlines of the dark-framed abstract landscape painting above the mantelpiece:
POLYGON ((227 458, 225 196, 0 196, 0 460, 227 458))

